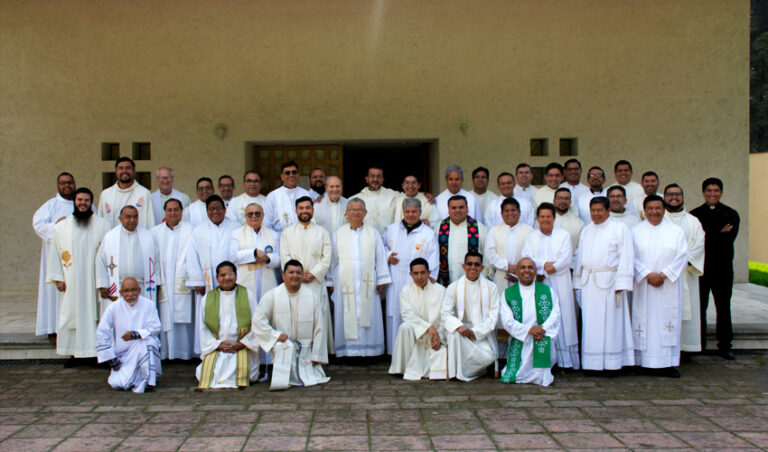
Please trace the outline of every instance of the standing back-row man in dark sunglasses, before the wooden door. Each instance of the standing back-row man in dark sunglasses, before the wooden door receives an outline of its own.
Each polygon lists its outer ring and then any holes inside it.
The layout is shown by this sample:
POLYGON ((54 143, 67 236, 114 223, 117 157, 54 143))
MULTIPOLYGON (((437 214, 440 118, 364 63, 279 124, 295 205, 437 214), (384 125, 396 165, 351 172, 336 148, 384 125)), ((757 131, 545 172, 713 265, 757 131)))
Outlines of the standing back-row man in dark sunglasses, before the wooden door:
POLYGON ((264 213, 267 214, 264 225, 278 234, 283 229, 296 223, 296 200, 309 196, 309 192, 299 187, 299 165, 293 160, 280 166, 280 180, 283 185, 269 192, 264 213))

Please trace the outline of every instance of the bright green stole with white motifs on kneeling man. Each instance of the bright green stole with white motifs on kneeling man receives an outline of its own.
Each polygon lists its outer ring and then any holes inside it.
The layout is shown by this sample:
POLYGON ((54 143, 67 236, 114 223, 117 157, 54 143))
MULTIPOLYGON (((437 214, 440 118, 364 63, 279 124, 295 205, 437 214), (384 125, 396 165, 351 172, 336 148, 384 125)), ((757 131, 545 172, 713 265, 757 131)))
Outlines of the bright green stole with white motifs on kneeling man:
MULTIPOLYGON (((536 324, 543 325, 552 312, 552 290, 544 283, 534 282, 533 300, 536 303, 536 324)), ((504 291, 504 298, 515 320, 523 322, 523 297, 520 295, 520 283, 515 283, 504 291)), ((552 338, 544 336, 544 339, 533 341, 533 367, 535 369, 548 369, 552 367, 552 338)), ((501 376, 502 383, 514 383, 517 371, 520 370, 523 356, 523 342, 510 337, 509 352, 507 354, 507 368, 501 376)))

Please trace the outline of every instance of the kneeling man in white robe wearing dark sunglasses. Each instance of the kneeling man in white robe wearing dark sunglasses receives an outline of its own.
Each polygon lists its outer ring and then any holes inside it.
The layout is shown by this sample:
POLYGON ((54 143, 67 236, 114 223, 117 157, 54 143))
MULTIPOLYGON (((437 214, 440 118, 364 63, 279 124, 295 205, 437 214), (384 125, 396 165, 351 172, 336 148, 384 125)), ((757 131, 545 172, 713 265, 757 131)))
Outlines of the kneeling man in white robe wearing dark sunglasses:
POLYGON ((464 276, 445 289, 440 321, 448 346, 448 378, 471 381, 496 361, 499 291, 485 279, 483 255, 469 251, 464 276))

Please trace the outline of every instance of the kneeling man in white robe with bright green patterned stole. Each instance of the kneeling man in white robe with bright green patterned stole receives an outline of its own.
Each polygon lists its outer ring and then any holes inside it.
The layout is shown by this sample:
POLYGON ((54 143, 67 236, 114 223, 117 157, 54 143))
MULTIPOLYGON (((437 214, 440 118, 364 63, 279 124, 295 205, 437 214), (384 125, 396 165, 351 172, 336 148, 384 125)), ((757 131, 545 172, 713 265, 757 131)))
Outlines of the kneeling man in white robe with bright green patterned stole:
POLYGON ((555 341, 560 323, 557 293, 536 281, 536 264, 524 257, 516 264, 519 282, 502 294, 501 325, 509 333, 502 383, 552 384, 555 341))

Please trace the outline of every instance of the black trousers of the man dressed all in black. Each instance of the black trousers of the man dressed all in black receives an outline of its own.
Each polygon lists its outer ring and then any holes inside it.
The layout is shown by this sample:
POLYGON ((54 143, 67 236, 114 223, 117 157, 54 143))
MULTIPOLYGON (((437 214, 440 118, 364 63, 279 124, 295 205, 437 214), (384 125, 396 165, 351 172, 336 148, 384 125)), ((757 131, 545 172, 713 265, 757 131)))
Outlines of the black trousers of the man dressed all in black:
POLYGON ((733 293, 733 270, 704 272, 699 277, 699 301, 701 303, 701 350, 706 350, 707 306, 709 292, 715 299, 717 349, 721 352, 731 350, 733 325, 731 324, 731 294, 733 293))

